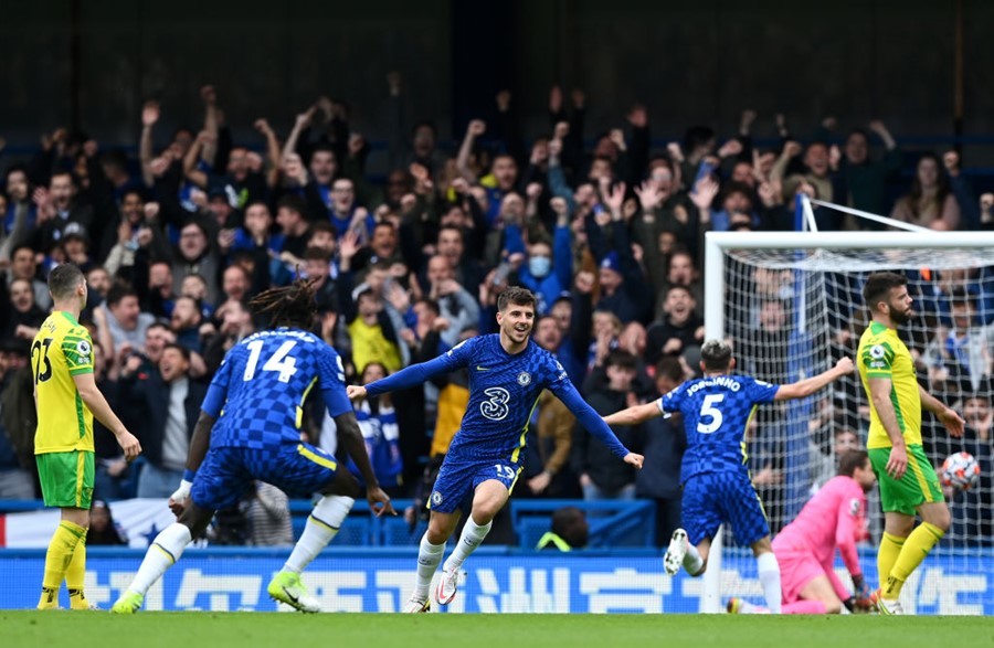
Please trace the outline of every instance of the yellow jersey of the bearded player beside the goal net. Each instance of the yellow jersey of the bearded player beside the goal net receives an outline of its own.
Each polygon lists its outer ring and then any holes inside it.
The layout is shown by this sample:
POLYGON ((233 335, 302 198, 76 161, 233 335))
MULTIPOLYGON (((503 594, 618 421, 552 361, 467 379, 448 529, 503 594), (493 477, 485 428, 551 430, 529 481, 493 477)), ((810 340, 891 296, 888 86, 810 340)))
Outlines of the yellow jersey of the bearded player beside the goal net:
POLYGON ((905 444, 921 445, 921 396, 914 375, 914 361, 908 348, 898 338, 897 331, 881 323, 871 322, 859 338, 856 352, 859 378, 870 405, 870 431, 867 448, 889 448, 892 444, 880 416, 874 407, 869 391, 869 379, 890 379, 890 403, 897 416, 898 426, 905 436, 905 444))

